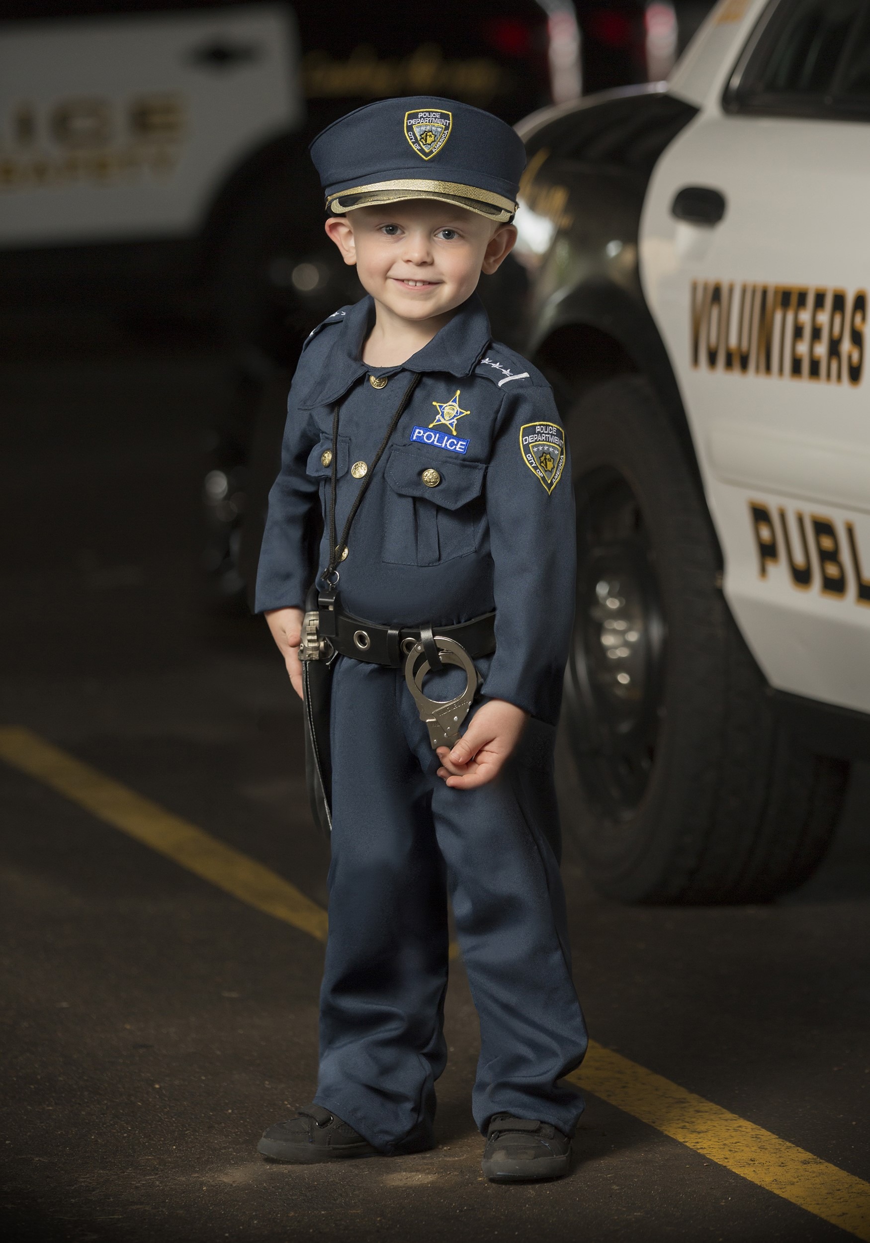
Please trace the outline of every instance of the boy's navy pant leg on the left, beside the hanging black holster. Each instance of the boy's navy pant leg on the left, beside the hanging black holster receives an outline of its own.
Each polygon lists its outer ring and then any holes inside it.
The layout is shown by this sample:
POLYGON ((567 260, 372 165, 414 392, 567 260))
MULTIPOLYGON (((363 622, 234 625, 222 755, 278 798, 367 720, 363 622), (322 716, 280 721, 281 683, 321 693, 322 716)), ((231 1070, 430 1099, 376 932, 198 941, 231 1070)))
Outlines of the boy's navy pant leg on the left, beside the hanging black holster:
POLYGON ((316 1101, 384 1152, 431 1146, 446 1062, 445 870, 401 695, 394 670, 338 660, 316 1101))

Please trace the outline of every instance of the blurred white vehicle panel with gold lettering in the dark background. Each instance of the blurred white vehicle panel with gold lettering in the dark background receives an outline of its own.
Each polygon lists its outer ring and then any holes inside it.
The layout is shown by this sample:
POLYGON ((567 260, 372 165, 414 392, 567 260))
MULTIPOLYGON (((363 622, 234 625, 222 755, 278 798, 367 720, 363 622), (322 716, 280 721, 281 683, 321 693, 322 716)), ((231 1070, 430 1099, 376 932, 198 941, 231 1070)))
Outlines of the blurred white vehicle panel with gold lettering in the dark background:
POLYGON ((189 234, 302 107, 283 5, 0 26, 0 246, 189 234))

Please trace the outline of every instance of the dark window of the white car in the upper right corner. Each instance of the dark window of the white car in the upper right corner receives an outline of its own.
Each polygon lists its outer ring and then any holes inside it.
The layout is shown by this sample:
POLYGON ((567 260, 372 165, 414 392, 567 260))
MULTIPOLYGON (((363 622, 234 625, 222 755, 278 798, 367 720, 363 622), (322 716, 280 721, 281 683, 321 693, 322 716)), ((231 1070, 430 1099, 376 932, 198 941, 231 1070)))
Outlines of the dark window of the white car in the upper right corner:
POLYGON ((763 21, 727 111, 870 119, 870 0, 784 0, 763 21))

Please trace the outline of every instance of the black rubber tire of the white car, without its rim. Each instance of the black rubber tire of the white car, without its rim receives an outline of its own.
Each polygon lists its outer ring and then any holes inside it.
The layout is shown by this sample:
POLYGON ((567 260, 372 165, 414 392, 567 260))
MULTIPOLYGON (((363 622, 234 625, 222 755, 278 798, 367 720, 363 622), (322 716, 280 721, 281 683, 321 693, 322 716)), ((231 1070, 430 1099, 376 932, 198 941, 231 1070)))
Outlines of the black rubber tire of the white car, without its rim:
POLYGON ((700 485, 651 385, 641 377, 595 385, 567 430, 578 511, 602 469, 619 472, 639 502, 666 659, 649 782, 619 822, 590 797, 577 755, 570 762, 567 692, 559 737, 566 835, 594 885, 618 900, 771 900, 823 858, 849 766, 794 742, 777 718, 717 585, 720 552, 700 485))

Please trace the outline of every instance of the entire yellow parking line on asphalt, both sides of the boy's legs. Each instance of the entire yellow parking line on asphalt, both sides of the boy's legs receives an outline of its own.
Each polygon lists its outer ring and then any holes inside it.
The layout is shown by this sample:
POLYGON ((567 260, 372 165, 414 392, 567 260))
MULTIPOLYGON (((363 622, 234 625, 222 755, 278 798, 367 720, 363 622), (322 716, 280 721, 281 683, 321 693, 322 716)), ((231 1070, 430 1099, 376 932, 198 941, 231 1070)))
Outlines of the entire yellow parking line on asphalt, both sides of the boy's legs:
MULTIPOLYGON (((227 894, 326 941, 326 911, 290 881, 30 730, 0 728, 0 758, 227 894)), ((594 1042, 569 1079, 710 1161, 870 1243, 870 1183, 861 1178, 594 1042)))

